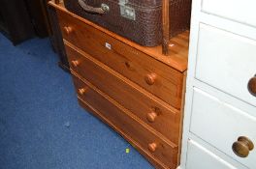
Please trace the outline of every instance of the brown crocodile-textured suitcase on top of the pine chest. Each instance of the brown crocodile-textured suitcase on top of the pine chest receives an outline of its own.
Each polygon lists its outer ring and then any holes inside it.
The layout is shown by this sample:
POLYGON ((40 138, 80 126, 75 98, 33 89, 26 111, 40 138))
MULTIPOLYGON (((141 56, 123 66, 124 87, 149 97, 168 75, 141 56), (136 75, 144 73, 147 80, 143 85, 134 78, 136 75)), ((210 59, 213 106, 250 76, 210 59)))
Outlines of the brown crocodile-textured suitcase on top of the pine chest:
MULTIPOLYGON (((161 0, 64 0, 65 7, 144 46, 162 42, 161 0)), ((170 0, 170 38, 189 29, 191 0, 170 0)))

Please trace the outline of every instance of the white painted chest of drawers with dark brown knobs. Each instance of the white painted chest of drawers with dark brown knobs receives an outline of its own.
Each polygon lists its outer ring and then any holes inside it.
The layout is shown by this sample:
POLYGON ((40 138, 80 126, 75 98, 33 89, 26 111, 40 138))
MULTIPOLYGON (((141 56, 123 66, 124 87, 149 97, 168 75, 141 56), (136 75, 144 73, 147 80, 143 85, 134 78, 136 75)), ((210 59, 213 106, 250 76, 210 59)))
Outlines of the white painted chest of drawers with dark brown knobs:
POLYGON ((193 1, 181 169, 256 169, 255 7, 193 1))

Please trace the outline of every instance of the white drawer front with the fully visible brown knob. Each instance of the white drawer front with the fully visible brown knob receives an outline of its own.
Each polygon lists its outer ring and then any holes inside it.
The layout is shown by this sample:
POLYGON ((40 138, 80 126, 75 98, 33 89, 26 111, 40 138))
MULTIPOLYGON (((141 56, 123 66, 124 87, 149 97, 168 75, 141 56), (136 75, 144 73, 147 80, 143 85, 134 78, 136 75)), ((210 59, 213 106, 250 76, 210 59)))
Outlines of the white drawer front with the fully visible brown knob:
POLYGON ((233 152, 233 144, 240 136, 245 136, 256 144, 255 128, 256 117, 194 89, 190 131, 251 169, 256 168, 256 149, 248 151, 248 146, 241 149, 241 145, 237 145, 236 148, 249 153, 247 157, 240 157, 233 152))

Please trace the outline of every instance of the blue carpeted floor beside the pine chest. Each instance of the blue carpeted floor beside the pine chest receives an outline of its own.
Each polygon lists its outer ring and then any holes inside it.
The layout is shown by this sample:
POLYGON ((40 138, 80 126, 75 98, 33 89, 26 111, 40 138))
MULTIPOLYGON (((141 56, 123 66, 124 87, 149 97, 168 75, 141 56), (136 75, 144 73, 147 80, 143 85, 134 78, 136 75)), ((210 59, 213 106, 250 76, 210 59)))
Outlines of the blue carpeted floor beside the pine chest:
POLYGON ((13 46, 0 34, 0 169, 153 168, 80 108, 57 62, 48 39, 13 46))

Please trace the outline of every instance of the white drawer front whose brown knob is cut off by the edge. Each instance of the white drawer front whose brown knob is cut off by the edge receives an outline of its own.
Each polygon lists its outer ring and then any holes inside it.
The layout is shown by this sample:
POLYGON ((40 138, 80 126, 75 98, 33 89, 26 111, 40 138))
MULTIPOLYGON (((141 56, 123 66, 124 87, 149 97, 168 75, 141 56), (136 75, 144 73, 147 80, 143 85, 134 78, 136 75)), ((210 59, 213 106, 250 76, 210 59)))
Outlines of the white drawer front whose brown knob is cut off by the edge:
POLYGON ((196 78, 256 106, 256 41, 201 24, 198 45, 196 78))

